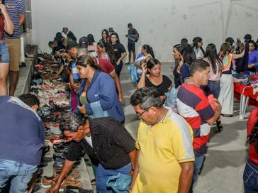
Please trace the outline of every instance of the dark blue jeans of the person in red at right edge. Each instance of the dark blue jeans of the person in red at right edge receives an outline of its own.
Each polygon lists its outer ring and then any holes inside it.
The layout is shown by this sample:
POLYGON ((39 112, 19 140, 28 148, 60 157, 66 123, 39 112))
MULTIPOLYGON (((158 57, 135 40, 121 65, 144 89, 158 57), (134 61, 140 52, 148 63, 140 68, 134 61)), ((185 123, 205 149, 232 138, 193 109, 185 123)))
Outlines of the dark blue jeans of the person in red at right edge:
POLYGON ((243 181, 245 193, 258 192, 258 165, 254 164, 249 158, 245 165, 243 181))

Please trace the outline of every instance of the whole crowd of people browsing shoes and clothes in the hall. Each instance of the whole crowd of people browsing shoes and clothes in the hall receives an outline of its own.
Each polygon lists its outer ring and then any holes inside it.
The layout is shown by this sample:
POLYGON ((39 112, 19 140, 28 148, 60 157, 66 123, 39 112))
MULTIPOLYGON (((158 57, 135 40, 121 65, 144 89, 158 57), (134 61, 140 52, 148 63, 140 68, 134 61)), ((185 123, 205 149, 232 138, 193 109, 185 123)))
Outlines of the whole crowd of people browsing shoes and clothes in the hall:
MULTIPOLYGON (((20 5, 22 1, 15 2, 20 5)), ((11 49, 12 43, 14 47, 14 43, 18 44, 16 39, 20 33, 16 28, 24 21, 23 6, 18 7, 21 17, 17 23, 11 20, 12 12, 8 13, 6 6, 0 4, 0 94, 4 95, 0 96, 0 192, 8 180, 11 180, 11 192, 33 191, 28 183, 37 172, 45 138, 45 126, 37 114, 40 107, 37 94, 13 96, 18 79, 18 55, 12 55, 11 49), (13 30, 14 35, 9 36, 13 30), (5 43, 4 31, 9 34, 5 38, 10 42, 5 43), (16 65, 11 65, 12 61, 16 65), (10 96, 6 88, 8 72, 10 96), (15 145, 9 143, 13 140, 17 142, 15 145)), ((112 192, 106 183, 108 177, 118 173, 132 177, 128 192, 193 192, 203 166, 211 126, 215 123, 218 132, 223 131, 220 117, 233 114, 232 73, 242 78, 258 72, 257 43, 249 34, 245 35, 243 43, 239 38, 236 42, 227 38, 219 50, 214 43, 203 49, 201 37, 191 43, 183 38, 172 47, 173 81, 162 75, 162 64, 155 58, 152 46, 142 45, 141 53, 136 55, 135 43, 140 36, 132 23, 128 23, 125 37, 128 38, 127 64, 135 66, 138 74, 136 91, 130 96, 130 104, 140 119, 136 141, 123 126, 125 99, 120 72, 127 51, 118 33, 110 26, 101 31, 99 42, 92 34, 77 42, 74 33, 64 27, 48 43, 52 48, 51 60, 58 66, 51 80, 69 84, 70 110, 84 119, 83 123, 79 120, 77 128, 63 131, 68 139, 63 143, 69 143, 69 150, 62 170, 46 192, 58 192, 82 153, 91 158, 96 177, 91 183, 96 182, 100 193, 112 192), (173 89, 176 96, 168 94, 173 89), (176 97, 176 111, 166 105, 169 97, 176 97)), ((258 114, 254 109, 247 124, 249 158, 244 172, 245 192, 258 191, 255 185, 258 179, 257 124, 258 114)))

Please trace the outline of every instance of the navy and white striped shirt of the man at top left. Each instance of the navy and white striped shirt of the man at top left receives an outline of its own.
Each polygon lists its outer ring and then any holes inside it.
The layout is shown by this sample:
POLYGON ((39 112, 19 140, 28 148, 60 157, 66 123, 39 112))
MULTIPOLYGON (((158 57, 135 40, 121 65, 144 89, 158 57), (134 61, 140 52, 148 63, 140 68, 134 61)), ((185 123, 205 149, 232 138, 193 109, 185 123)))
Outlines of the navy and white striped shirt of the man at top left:
POLYGON ((5 33, 5 38, 14 39, 20 38, 21 36, 21 27, 19 25, 19 15, 24 14, 26 12, 25 1, 24 0, 6 0, 6 10, 9 13, 11 21, 14 26, 13 35, 8 35, 5 33))

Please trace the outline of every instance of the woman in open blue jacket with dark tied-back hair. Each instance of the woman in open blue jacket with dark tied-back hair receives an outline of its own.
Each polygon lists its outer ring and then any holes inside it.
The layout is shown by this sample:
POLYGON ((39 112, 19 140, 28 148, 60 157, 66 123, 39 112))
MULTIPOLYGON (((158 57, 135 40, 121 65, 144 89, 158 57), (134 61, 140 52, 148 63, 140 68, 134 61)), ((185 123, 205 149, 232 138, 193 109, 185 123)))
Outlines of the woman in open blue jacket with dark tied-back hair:
POLYGON ((77 59, 77 68, 79 76, 83 79, 79 87, 79 101, 82 104, 78 109, 79 112, 88 115, 96 114, 92 104, 97 102, 108 116, 124 123, 125 115, 113 79, 102 72, 94 60, 87 55, 82 55, 77 59), (89 85, 85 87, 85 84, 89 85))

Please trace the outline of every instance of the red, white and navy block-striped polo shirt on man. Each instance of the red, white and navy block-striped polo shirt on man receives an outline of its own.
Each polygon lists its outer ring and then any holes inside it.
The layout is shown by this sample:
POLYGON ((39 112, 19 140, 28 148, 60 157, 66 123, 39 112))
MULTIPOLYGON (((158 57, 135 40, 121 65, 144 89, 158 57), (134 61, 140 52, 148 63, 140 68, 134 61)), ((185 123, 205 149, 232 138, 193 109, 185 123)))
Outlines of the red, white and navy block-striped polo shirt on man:
POLYGON ((177 109, 194 131, 194 155, 206 153, 211 126, 206 121, 215 114, 202 89, 185 82, 177 94, 177 109))

